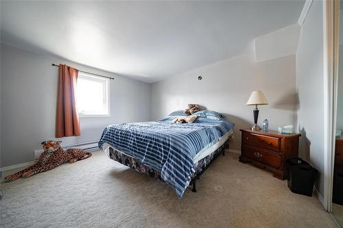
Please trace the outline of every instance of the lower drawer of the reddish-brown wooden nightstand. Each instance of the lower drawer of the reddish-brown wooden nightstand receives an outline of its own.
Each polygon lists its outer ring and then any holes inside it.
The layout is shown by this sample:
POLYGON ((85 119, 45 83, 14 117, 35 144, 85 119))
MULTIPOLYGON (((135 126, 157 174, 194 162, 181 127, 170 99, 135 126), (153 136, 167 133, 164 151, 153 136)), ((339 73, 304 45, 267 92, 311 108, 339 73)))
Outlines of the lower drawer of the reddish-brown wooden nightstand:
POLYGON ((281 167, 281 155, 278 153, 272 153, 263 149, 257 149, 255 147, 249 147, 245 144, 241 147, 241 155, 249 157, 251 160, 261 162, 262 164, 272 166, 274 168, 281 167))

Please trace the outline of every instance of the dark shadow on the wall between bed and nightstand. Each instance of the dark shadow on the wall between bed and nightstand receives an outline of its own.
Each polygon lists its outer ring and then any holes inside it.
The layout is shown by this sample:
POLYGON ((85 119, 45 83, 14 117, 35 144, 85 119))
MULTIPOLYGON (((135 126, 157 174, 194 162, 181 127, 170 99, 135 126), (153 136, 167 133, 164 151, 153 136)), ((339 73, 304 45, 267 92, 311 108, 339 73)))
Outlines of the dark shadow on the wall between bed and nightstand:
POLYGON ((235 124, 233 129, 234 139, 230 142, 230 149, 241 150, 241 131, 239 129, 248 129, 251 127, 252 123, 240 118, 239 116, 233 116, 231 114, 223 113, 225 115, 225 120, 230 121, 235 124))

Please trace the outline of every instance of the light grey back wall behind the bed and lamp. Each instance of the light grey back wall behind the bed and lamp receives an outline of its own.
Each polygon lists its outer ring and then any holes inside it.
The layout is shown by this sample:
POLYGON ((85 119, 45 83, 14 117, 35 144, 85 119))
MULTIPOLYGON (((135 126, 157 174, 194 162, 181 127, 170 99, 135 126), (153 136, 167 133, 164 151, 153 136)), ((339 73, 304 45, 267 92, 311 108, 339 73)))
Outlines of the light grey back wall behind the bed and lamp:
POLYGON ((240 149, 239 129, 253 124, 252 110, 246 101, 252 90, 263 90, 270 105, 259 106, 259 125, 265 118, 270 129, 296 123, 295 56, 255 63, 255 54, 239 55, 152 84, 152 120, 163 118, 188 103, 226 114, 236 124, 231 149, 240 149), (202 75, 202 80, 198 76, 202 75))

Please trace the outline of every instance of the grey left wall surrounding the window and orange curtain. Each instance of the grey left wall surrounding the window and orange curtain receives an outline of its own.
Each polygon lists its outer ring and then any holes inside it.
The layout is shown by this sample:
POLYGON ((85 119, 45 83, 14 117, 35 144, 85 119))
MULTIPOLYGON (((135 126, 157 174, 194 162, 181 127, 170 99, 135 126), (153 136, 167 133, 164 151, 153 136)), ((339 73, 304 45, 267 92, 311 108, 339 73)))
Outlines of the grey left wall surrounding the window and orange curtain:
POLYGON ((150 84, 1 45, 1 167, 34 160, 40 142, 54 138, 58 68, 51 63, 115 77, 110 81, 111 116, 80 118, 81 136, 62 138, 63 145, 99 140, 111 123, 150 118, 150 84))

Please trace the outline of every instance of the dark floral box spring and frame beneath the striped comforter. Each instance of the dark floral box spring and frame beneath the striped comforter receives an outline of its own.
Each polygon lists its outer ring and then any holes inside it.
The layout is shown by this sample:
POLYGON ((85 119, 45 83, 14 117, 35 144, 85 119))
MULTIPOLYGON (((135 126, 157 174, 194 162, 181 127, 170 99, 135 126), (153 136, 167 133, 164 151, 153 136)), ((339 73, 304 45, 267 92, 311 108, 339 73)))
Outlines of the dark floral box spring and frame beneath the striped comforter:
MULTIPOLYGON (((207 170, 207 168, 209 168, 209 166, 211 166, 211 164, 213 164, 213 162, 218 157, 220 157, 220 155, 225 156, 225 150, 229 148, 228 141, 229 140, 226 140, 226 142, 224 142, 222 146, 220 146, 213 153, 211 153, 210 155, 207 155, 206 157, 202 158, 198 162, 198 166, 196 167, 196 172, 193 173, 193 175, 191 175, 191 181, 189 182, 189 187, 192 186, 192 190, 191 190, 192 192, 196 192, 196 181, 200 179, 200 176, 207 170)), ((137 170, 139 173, 144 173, 146 175, 150 175, 150 177, 154 177, 155 179, 163 181, 163 179, 161 178, 161 173, 154 170, 153 168, 145 166, 143 163, 139 162, 133 157, 125 155, 121 153, 120 151, 113 149, 112 147, 109 148, 108 155, 110 159, 115 160, 116 162, 119 162, 134 170, 137 170)))

